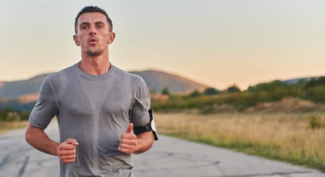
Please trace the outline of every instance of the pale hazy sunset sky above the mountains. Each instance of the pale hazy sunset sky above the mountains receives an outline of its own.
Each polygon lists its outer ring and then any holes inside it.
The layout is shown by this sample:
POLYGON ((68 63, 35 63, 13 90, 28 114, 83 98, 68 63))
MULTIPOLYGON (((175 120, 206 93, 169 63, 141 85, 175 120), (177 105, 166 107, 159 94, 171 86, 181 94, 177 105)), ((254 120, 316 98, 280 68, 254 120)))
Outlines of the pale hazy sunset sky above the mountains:
POLYGON ((110 62, 154 69, 223 90, 325 75, 325 1, 0 0, 0 81, 77 63, 74 18, 105 9, 116 38, 110 62))

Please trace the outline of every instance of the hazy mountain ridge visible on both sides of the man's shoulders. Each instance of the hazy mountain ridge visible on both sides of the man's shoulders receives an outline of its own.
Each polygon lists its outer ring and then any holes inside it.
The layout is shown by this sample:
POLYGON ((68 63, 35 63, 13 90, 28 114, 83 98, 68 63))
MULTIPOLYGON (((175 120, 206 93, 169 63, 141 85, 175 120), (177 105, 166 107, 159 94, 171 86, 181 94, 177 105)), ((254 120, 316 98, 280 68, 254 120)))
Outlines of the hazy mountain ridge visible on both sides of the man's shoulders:
MULTIPOLYGON (((130 73, 138 74, 144 78, 148 85, 148 89, 155 93, 160 93, 164 87, 167 87, 169 92, 189 93, 194 90, 203 90, 207 85, 183 78, 174 74, 165 73, 162 71, 147 70, 147 71, 131 71, 130 73)), ((39 92, 40 85, 46 76, 49 74, 41 74, 27 80, 19 80, 12 82, 0 82, 0 99, 5 101, 13 99, 35 98, 34 94, 39 92), (26 97, 29 95, 29 97, 26 97)))

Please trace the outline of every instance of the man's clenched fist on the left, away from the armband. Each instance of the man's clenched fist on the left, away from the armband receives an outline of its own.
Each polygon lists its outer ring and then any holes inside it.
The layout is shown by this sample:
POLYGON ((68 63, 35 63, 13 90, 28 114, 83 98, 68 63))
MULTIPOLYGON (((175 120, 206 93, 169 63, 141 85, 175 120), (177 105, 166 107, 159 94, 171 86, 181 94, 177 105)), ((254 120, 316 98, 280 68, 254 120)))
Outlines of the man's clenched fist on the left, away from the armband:
POLYGON ((76 160, 76 146, 79 143, 76 139, 68 138, 57 148, 57 153, 63 163, 72 163, 76 160))

